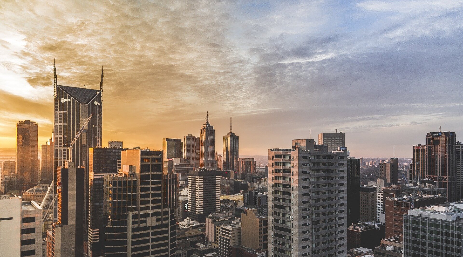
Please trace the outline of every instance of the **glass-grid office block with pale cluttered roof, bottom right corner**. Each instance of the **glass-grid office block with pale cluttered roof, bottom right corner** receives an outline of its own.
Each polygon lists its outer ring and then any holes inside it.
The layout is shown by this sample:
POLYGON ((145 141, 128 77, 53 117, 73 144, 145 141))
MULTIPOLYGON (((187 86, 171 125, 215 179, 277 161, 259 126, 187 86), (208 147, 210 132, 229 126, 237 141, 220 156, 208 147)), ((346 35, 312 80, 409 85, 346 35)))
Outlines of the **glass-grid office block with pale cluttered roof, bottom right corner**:
POLYGON ((463 256, 463 202, 408 210, 404 215, 404 257, 463 256))

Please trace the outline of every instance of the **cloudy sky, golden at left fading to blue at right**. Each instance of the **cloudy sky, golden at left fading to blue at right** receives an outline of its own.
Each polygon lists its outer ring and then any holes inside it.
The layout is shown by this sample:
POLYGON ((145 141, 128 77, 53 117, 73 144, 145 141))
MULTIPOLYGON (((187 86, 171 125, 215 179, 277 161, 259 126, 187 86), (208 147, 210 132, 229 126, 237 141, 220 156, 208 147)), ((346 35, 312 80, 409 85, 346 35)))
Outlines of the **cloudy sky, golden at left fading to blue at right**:
POLYGON ((161 148, 209 112, 240 155, 346 133, 355 157, 411 157, 463 133, 461 0, 0 0, 0 148, 51 136, 58 84, 98 89, 103 142, 161 148))

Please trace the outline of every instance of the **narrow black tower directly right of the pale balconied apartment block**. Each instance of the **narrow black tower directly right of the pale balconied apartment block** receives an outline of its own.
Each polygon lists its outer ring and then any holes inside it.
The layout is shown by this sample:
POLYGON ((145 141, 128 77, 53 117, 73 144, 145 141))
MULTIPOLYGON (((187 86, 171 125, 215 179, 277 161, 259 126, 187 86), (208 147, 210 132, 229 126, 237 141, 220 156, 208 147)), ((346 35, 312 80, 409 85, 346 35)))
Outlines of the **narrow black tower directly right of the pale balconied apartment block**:
POLYGON ((357 223, 359 219, 360 159, 347 157, 347 224, 357 223))

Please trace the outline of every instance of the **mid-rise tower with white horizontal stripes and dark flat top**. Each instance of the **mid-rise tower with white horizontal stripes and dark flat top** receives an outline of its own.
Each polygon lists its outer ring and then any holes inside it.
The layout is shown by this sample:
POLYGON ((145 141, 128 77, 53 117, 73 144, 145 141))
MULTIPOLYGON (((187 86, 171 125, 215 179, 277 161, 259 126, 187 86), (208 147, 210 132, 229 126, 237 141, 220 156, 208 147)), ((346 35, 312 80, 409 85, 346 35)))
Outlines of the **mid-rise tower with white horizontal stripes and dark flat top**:
POLYGON ((220 211, 220 174, 216 170, 189 171, 188 189, 191 219, 205 222, 209 214, 220 211))

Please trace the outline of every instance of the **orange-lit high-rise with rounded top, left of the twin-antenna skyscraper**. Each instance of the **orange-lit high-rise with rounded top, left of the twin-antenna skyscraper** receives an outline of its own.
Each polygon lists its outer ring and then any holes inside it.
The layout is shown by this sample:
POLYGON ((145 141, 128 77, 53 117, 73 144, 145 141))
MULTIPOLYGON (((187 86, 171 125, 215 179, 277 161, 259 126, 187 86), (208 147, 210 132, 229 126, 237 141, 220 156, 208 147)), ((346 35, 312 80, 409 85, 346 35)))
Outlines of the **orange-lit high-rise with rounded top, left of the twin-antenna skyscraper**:
POLYGON ((38 185, 38 124, 20 120, 16 125, 17 189, 27 190, 38 185))

